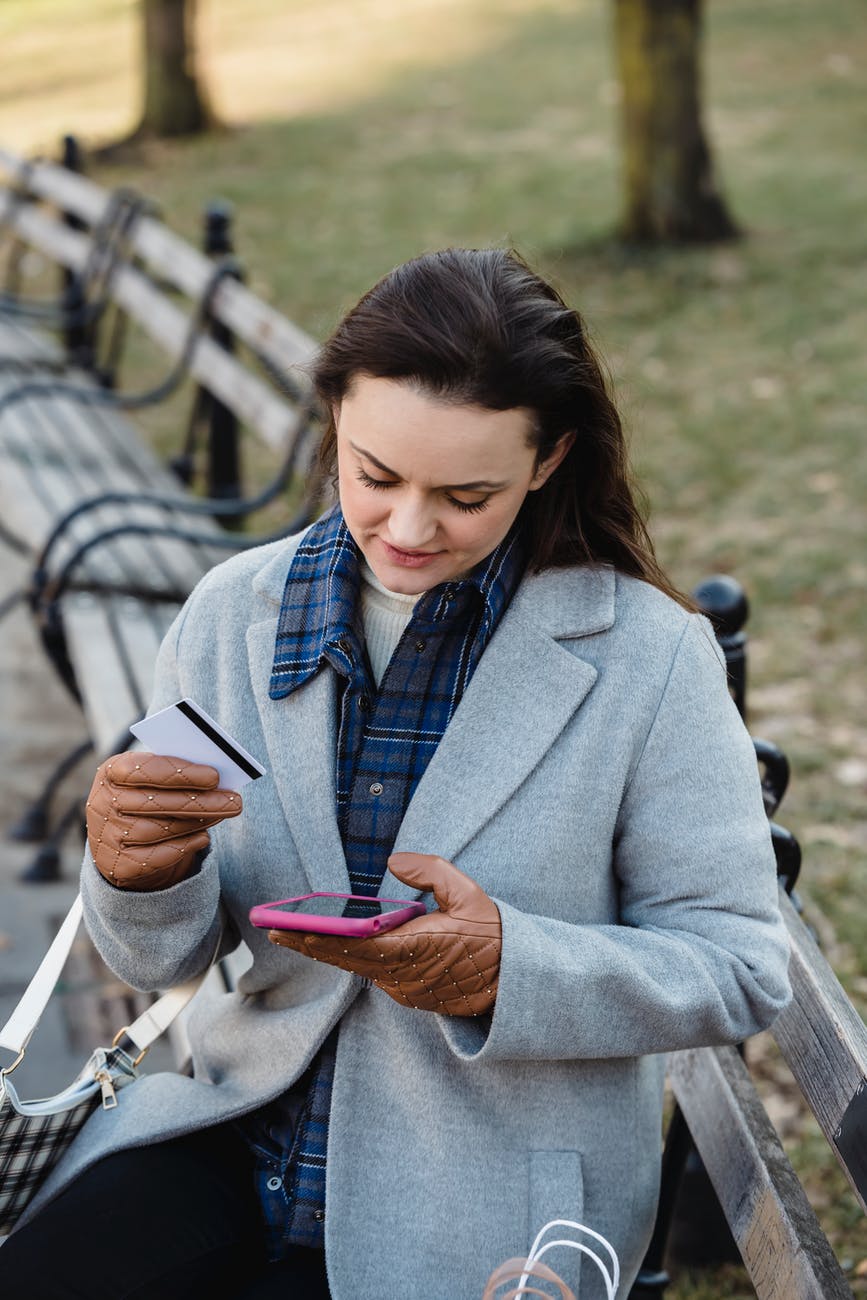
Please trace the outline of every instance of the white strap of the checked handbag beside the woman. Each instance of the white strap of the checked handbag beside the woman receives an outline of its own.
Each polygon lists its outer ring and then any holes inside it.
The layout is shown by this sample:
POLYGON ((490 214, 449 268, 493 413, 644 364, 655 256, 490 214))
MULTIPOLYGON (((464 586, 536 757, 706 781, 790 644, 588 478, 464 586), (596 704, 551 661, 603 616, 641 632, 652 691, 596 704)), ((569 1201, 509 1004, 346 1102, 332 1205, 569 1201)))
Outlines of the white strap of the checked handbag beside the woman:
MULTIPOLYGON (((0 1046, 16 1052, 18 1057, 23 1054, 30 1036, 39 1024, 42 1013, 45 1010, 48 1000, 55 991, 60 972, 75 941, 81 919, 82 896, 78 894, 66 914, 66 919, 57 931, 51 948, 39 963, 39 970, 27 984, 17 1008, 0 1030, 0 1046)), ((214 952, 211 965, 213 965, 217 953, 214 952)), ((133 1024, 125 1028, 123 1032, 135 1043, 140 1052, 146 1052, 161 1034, 165 1034, 174 1018, 179 1015, 187 1002, 199 991, 207 974, 208 971, 205 970, 201 975, 196 975, 195 979, 187 980, 186 984, 178 984, 177 988, 164 993, 159 1001, 148 1006, 133 1024)))

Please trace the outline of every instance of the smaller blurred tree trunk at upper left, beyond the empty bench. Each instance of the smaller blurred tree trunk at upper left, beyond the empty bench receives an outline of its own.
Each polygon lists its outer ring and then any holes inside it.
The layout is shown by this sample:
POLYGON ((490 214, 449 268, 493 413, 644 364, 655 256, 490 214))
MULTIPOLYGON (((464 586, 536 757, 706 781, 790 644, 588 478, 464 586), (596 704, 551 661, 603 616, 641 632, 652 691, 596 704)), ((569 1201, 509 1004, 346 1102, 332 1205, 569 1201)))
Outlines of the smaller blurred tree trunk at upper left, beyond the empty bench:
POLYGON ((144 109, 136 135, 196 135, 213 125, 195 68, 195 0, 140 0, 144 109))

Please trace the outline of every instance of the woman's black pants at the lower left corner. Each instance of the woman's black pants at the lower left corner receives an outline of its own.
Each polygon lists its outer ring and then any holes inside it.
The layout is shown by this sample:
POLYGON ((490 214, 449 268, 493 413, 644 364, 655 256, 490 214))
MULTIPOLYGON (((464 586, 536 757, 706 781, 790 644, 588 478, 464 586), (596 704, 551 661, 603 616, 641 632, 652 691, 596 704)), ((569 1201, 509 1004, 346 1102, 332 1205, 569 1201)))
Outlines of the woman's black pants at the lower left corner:
POLYGON ((229 1126, 94 1165, 0 1245, 0 1295, 329 1300, 322 1251, 266 1262, 251 1157, 229 1126))

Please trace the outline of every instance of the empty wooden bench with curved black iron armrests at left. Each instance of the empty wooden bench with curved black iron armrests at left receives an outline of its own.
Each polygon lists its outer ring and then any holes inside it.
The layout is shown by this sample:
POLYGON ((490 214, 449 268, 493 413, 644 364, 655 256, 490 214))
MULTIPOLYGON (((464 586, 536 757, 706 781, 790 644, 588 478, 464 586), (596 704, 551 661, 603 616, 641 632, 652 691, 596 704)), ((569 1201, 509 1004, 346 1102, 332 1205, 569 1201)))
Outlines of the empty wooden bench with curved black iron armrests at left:
MULTIPOLYGON (((0 294, 0 543, 31 562, 27 597, 97 757, 126 748, 160 641, 195 582, 265 540, 217 520, 233 524, 281 502, 279 521, 273 507, 268 516, 269 536, 281 536, 316 508, 318 421, 303 370, 313 342, 243 286, 227 255, 226 214, 211 217, 207 256, 140 196, 0 148, 0 238, 5 231, 10 243, 0 294), (60 300, 22 295, 21 268, 34 251, 62 268, 60 300), (165 378, 148 391, 118 387, 129 324, 166 358, 165 378), (136 411, 183 385, 192 412, 174 465, 186 481, 135 424, 136 411), (239 426, 274 464, 247 498, 239 426), (194 436, 211 445, 207 497, 188 489, 194 436)), ((21 837, 44 833, 44 810, 43 800, 21 837)), ((36 876, 55 864, 49 842, 36 876)))

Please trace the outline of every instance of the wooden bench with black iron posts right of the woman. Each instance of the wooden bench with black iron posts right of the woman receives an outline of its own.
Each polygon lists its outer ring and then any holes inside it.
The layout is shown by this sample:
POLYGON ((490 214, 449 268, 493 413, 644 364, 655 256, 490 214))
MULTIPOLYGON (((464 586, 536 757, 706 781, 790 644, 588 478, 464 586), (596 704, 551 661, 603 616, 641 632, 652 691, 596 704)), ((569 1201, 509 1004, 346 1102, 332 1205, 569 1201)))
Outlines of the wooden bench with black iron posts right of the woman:
MULTIPOLYGON (((695 594, 715 621, 733 696, 744 712, 744 595, 732 580, 711 580, 695 594)), ((788 784, 788 763, 775 746, 764 741, 755 741, 755 746, 766 809, 773 816, 788 784)), ((771 824, 780 904, 792 942, 793 1000, 770 1032, 828 1140, 829 1158, 833 1153, 867 1212, 867 1027, 802 918, 794 893, 801 864, 797 842, 771 824)), ((676 1052, 668 1057, 668 1078, 676 1108, 666 1138, 659 1214, 630 1300, 664 1295, 669 1282, 667 1239, 689 1195, 697 1196, 701 1206, 697 1213, 688 1206, 689 1230, 695 1235, 690 1253, 701 1253, 701 1234, 710 1231, 707 1222, 698 1222, 706 1213, 706 1197, 695 1178, 679 1202, 692 1150, 698 1152, 710 1176, 759 1300, 851 1297, 846 1274, 783 1149, 744 1056, 732 1046, 676 1052)), ((699 1169, 698 1182, 703 1179, 699 1169)), ((716 1213, 718 1205, 711 1202, 716 1213)))

